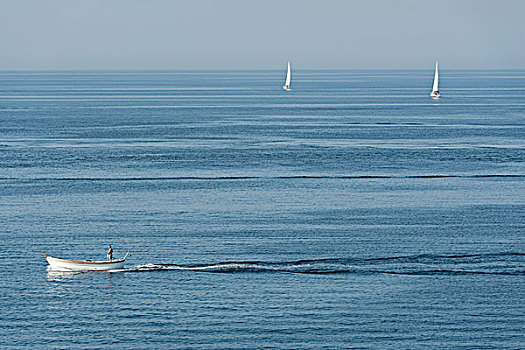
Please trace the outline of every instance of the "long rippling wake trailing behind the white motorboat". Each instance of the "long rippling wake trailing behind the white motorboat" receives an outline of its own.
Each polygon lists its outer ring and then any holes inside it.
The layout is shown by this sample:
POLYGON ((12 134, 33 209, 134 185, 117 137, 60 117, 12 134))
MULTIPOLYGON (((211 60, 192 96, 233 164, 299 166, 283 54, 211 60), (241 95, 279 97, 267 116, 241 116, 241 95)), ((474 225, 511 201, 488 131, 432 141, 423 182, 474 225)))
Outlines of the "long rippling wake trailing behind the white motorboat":
POLYGON ((212 264, 143 264, 112 272, 194 271, 209 273, 525 275, 525 253, 413 255, 366 259, 285 262, 230 261, 212 264))

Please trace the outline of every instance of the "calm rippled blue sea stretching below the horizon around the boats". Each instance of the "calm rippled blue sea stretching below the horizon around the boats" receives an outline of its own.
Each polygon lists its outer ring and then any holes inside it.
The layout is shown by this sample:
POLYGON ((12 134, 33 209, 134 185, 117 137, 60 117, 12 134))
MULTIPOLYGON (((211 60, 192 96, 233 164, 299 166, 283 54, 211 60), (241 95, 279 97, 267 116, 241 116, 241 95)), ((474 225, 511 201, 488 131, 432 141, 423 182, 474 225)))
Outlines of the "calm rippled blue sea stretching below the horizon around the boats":
POLYGON ((432 78, 0 72, 1 348, 525 348, 525 71, 432 78))

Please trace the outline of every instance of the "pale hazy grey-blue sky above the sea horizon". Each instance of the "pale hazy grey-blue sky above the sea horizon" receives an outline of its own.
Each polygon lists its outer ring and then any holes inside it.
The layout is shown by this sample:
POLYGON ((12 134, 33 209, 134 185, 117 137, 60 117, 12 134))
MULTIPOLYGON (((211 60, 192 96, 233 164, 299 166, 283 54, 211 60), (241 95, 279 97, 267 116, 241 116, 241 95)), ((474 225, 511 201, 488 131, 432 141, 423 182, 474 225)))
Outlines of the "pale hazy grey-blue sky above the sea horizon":
POLYGON ((0 0, 0 70, 525 69, 520 0, 0 0))

